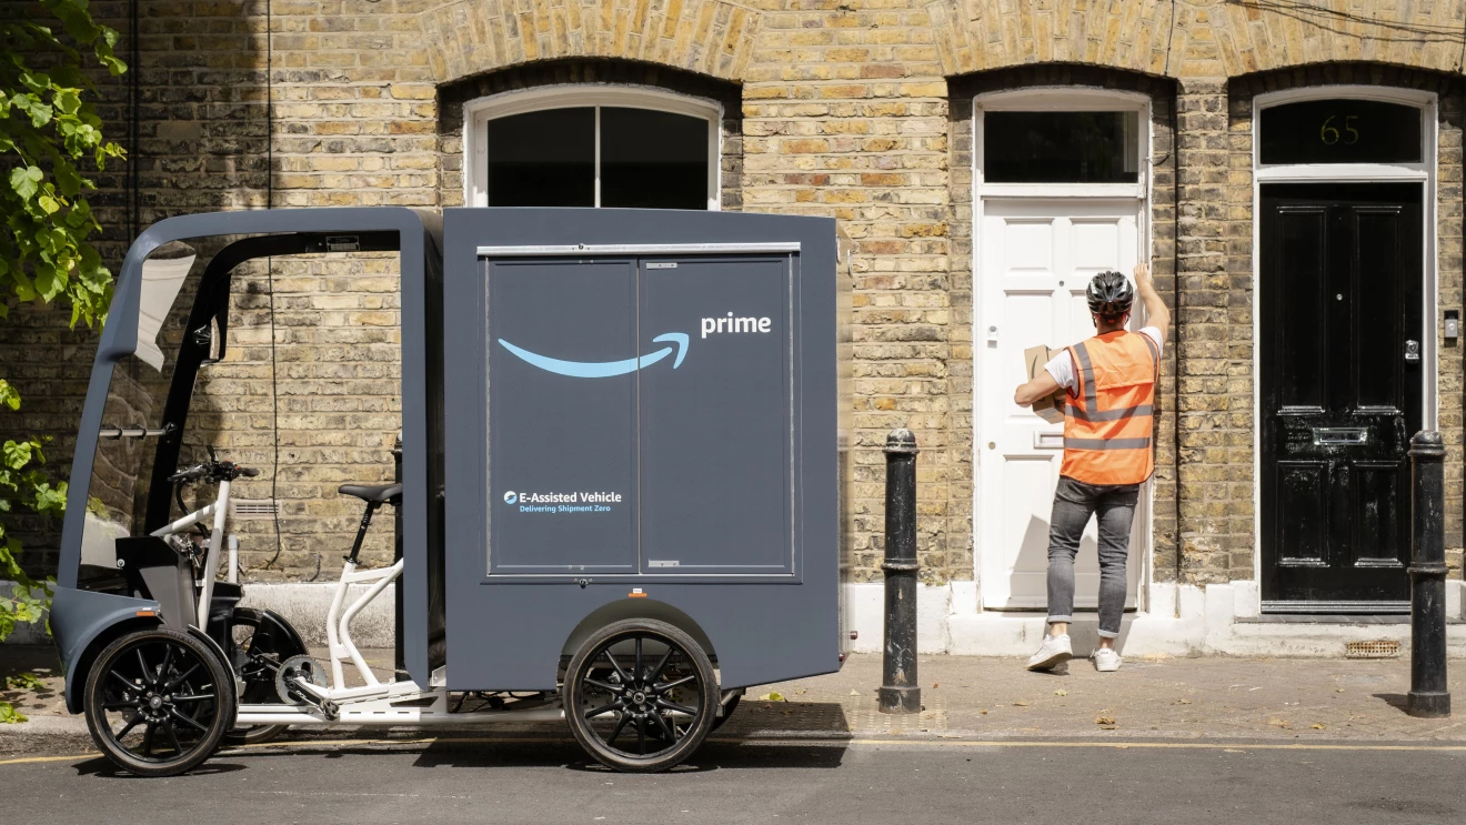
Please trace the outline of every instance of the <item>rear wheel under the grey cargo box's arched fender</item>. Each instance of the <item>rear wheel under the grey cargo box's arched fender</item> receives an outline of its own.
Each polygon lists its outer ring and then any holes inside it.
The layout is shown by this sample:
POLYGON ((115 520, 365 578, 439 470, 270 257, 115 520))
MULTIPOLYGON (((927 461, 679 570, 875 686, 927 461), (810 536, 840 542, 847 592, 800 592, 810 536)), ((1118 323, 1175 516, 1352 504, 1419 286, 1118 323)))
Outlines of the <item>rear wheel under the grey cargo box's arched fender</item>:
POLYGON ((566 722, 581 747, 607 768, 638 774, 666 771, 690 756, 712 730, 720 696, 702 648, 649 618, 616 621, 586 639, 560 687, 566 722), (610 676, 603 680, 603 674, 610 676))

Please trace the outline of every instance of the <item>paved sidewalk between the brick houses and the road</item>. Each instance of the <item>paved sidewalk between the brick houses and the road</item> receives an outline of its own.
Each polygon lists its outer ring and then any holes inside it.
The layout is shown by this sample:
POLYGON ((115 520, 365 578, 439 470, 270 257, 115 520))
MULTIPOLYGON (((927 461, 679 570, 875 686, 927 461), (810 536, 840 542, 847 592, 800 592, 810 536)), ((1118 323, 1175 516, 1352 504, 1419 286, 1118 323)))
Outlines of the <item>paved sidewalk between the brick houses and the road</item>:
MULTIPOLYGON (((365 655, 374 668, 391 661, 390 651, 365 655)), ((1107 674, 1075 659, 1061 673, 1035 674, 1022 659, 934 655, 919 661, 924 712, 900 717, 877 712, 881 658, 858 654, 837 674, 749 690, 717 736, 1459 743, 1466 661, 1450 668, 1456 715, 1416 719, 1403 711, 1407 659, 1132 658, 1107 674)), ((82 718, 62 706, 51 649, 0 646, 0 677, 22 671, 45 690, 0 693, 31 718, 0 725, 0 740, 15 747, 13 737, 85 736, 82 718)))

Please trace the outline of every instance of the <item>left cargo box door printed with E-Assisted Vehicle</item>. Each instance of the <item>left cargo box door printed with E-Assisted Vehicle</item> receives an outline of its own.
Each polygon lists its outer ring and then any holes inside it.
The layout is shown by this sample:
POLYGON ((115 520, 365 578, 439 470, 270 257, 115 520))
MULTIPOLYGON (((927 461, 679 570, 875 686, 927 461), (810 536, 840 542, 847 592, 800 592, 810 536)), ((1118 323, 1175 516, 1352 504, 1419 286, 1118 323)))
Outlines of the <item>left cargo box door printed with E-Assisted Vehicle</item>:
POLYGON ((636 573, 635 261, 488 262, 487 337, 490 573, 636 573))

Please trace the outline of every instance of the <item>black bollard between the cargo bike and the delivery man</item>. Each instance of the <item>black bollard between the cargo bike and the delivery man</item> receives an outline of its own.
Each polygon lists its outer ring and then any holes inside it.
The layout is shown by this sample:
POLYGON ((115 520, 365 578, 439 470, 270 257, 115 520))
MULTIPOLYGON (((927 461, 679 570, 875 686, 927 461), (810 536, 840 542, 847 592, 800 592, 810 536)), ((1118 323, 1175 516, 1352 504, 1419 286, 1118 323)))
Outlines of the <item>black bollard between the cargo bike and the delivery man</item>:
POLYGON ((916 681, 916 437, 910 429, 893 429, 885 437, 883 714, 921 712, 921 683, 916 681))

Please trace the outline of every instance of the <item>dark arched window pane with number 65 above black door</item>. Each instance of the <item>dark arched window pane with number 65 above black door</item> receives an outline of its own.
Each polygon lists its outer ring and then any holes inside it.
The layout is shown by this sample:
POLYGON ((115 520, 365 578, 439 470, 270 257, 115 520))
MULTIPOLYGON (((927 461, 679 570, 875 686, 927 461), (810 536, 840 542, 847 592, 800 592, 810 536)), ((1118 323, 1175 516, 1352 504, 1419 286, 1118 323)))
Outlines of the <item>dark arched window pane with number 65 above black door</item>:
POLYGON ((1262 163, 1419 163, 1421 110, 1309 100, 1262 110, 1262 163))

